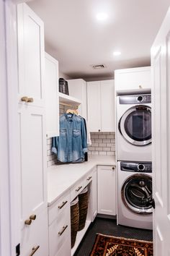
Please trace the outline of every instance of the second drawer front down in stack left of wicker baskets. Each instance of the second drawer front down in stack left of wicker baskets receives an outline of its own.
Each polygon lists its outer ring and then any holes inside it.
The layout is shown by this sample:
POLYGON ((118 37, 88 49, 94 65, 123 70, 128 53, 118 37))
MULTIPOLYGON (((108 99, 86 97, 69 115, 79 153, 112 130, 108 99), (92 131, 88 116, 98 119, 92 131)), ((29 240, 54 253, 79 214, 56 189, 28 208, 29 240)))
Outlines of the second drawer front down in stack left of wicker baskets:
MULTIPOLYGON (((67 239, 71 241, 70 212, 67 218, 63 216, 59 221, 56 218, 49 226, 49 255, 57 255, 67 239)), ((69 248, 71 250, 71 246, 69 248)))

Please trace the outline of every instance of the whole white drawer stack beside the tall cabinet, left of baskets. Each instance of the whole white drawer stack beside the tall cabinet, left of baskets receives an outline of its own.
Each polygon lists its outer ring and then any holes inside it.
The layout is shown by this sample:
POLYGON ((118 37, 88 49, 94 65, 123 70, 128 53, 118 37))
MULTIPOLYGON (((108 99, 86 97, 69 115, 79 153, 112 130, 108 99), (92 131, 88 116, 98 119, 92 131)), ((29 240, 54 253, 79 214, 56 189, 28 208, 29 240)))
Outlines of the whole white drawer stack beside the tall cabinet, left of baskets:
POLYGON ((71 255, 70 192, 48 208, 49 256, 71 255))

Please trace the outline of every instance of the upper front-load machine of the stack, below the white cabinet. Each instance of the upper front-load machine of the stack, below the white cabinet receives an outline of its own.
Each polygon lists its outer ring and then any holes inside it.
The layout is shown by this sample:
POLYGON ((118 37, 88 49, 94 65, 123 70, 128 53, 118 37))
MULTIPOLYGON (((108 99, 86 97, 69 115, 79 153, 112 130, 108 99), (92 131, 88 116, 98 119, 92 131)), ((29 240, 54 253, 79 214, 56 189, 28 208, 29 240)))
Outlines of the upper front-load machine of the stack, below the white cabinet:
POLYGON ((151 94, 117 96, 117 161, 151 161, 151 94))

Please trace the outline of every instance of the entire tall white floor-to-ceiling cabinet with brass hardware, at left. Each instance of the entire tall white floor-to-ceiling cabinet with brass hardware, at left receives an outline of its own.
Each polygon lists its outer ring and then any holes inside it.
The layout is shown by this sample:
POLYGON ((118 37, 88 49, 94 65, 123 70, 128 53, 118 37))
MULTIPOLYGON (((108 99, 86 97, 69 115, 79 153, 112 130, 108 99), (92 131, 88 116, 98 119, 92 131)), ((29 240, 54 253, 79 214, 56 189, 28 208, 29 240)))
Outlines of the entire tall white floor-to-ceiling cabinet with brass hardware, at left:
POLYGON ((21 255, 42 256, 48 255, 44 25, 19 4, 17 29, 21 255))

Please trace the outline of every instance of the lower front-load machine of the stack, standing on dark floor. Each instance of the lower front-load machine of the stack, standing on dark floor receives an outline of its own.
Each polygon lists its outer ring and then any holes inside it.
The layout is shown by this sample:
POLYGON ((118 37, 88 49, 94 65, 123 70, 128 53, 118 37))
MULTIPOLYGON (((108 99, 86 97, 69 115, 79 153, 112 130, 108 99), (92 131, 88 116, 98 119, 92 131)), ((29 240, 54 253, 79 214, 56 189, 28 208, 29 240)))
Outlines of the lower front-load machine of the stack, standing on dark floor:
POLYGON ((117 223, 153 229, 152 163, 117 162, 117 223))

